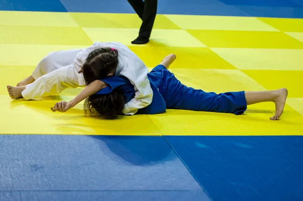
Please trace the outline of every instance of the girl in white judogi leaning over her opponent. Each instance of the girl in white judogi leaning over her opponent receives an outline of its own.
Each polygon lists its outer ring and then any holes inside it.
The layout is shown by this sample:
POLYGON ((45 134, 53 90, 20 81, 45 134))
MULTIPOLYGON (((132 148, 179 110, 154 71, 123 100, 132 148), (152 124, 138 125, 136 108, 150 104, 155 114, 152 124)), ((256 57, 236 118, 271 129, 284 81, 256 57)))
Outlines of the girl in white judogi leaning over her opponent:
POLYGON ((48 54, 31 76, 16 87, 7 88, 13 99, 39 99, 70 87, 88 87, 92 81, 106 76, 124 76, 134 85, 136 94, 125 105, 123 113, 133 115, 153 99, 147 73, 145 64, 127 46, 118 42, 95 42, 85 49, 48 54))

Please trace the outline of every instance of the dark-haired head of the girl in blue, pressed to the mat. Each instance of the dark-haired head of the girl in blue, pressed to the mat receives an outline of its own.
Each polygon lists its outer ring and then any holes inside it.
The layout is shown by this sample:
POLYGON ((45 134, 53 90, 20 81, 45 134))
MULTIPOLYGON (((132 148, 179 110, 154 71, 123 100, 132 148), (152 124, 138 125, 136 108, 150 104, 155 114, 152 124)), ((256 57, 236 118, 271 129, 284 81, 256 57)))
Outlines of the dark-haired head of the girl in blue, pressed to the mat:
POLYGON ((117 115, 123 115, 125 99, 123 92, 114 89, 109 94, 93 94, 84 102, 85 114, 91 117, 102 117, 105 119, 116 119, 117 115))

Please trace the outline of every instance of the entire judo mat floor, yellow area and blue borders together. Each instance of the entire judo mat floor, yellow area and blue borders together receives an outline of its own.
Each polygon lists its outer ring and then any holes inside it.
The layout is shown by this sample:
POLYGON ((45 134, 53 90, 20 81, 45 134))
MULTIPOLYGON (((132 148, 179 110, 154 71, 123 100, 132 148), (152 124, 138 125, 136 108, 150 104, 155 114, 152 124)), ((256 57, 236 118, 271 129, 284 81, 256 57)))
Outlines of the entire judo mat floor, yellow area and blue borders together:
POLYGON ((159 2, 150 42, 127 1, 0 1, 0 200, 302 200, 303 2, 159 2), (104 4, 105 6, 98 6, 104 4), (167 8, 170 9, 167 9, 167 8), (244 115, 167 110, 99 120, 83 103, 53 113, 67 89, 12 100, 7 85, 49 52, 94 41, 128 45, 149 69, 171 53, 185 85, 289 91, 244 115))

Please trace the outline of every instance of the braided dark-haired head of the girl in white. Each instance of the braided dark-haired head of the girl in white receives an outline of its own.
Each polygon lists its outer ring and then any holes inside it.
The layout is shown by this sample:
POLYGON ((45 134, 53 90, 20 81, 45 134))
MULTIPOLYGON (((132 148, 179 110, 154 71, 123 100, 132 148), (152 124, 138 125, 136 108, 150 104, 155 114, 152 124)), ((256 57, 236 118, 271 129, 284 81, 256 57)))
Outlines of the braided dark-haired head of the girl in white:
POLYGON ((82 66, 86 85, 94 80, 113 76, 118 65, 118 51, 110 47, 94 49, 82 66))

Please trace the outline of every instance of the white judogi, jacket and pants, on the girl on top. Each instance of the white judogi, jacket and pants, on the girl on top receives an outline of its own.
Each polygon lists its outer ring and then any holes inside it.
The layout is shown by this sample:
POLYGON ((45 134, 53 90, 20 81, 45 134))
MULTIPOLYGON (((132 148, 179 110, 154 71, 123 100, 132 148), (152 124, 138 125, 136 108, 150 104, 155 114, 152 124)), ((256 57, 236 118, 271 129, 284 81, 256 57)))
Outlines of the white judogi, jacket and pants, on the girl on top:
POLYGON ((125 104, 123 113, 134 115, 153 99, 148 69, 127 46, 118 42, 95 42, 85 49, 72 49, 48 54, 37 65, 32 76, 35 81, 22 91, 24 99, 40 98, 61 93, 69 87, 84 87, 82 73, 78 73, 88 54, 99 47, 112 47, 118 50, 118 67, 115 76, 125 76, 134 85, 135 97, 125 104))

